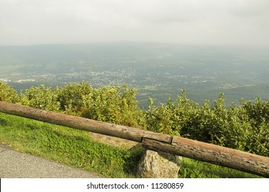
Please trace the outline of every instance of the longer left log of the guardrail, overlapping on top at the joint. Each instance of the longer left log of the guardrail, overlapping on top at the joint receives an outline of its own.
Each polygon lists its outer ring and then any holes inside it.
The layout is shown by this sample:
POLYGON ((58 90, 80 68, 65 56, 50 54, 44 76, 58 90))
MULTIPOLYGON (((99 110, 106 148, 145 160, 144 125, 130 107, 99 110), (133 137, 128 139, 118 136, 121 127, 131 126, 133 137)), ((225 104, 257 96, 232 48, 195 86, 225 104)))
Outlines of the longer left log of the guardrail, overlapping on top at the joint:
POLYGON ((155 139, 164 143, 171 143, 172 141, 172 136, 170 136, 169 134, 149 132, 136 128, 130 128, 127 126, 105 123, 92 119, 75 117, 72 115, 65 115, 58 112, 50 112, 47 110, 30 108, 28 106, 10 104, 4 101, 0 101, 0 112, 6 112, 11 115, 17 115, 29 119, 36 119, 39 121, 53 123, 56 125, 63 125, 78 130, 85 130, 88 132, 96 132, 99 134, 116 136, 131 141, 141 142, 142 137, 155 139))

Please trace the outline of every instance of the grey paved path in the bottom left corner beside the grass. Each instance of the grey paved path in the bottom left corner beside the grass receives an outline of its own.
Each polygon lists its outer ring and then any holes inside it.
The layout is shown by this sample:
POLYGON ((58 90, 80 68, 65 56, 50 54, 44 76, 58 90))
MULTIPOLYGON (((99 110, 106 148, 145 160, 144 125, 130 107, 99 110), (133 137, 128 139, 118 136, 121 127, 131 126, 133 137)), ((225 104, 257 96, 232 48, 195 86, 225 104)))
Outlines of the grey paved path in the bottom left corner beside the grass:
POLYGON ((82 169, 16 152, 0 143, 0 178, 102 178, 82 169))

